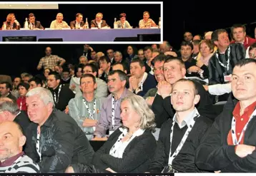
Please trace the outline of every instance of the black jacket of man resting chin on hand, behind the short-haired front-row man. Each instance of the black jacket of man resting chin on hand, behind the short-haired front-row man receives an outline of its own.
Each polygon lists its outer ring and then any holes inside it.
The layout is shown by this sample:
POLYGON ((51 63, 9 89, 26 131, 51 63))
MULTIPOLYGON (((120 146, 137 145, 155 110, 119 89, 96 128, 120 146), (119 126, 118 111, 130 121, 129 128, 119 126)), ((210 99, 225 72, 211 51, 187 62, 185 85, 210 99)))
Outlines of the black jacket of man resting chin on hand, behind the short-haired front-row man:
MULTIPOLYGON (((212 108, 212 101, 202 84, 197 81, 193 81, 195 86, 197 86, 198 94, 200 95, 200 102, 197 103, 196 108, 200 115, 210 118, 212 121, 216 118, 217 114, 212 108)), ((171 96, 167 98, 162 98, 160 95, 156 95, 154 102, 152 104, 152 110, 155 115, 155 122, 157 123, 157 128, 161 128, 162 123, 164 123, 169 117, 173 117, 175 110, 172 108, 170 101, 171 96)))

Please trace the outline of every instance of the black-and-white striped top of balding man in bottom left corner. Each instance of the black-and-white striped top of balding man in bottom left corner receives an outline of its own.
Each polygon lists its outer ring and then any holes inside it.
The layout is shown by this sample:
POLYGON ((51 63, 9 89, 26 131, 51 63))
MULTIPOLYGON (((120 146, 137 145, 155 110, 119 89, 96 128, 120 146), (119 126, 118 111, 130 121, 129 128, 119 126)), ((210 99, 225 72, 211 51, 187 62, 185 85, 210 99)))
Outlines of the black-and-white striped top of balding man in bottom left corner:
POLYGON ((27 155, 21 155, 11 165, 1 165, 0 173, 39 173, 37 165, 27 155))

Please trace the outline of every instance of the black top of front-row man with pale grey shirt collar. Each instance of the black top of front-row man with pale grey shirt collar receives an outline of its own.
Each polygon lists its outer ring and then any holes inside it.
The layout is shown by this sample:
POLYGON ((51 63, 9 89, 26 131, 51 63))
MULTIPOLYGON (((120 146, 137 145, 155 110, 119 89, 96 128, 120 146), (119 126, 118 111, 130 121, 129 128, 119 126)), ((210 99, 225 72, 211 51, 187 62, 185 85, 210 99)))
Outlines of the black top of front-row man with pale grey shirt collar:
MULTIPOLYGON (((200 145, 202 136, 211 124, 212 121, 210 119, 202 116, 195 121, 195 125, 189 133, 182 149, 172 161, 172 166, 179 172, 200 172, 195 165, 195 150, 198 145, 200 145)), ((159 140, 157 141, 157 150, 153 162, 149 166, 149 172, 159 173, 168 165, 171 128, 172 119, 167 120, 167 122, 162 125, 159 140)), ((175 138, 175 133, 173 138, 175 138)), ((172 152, 174 151, 172 150, 172 152)))

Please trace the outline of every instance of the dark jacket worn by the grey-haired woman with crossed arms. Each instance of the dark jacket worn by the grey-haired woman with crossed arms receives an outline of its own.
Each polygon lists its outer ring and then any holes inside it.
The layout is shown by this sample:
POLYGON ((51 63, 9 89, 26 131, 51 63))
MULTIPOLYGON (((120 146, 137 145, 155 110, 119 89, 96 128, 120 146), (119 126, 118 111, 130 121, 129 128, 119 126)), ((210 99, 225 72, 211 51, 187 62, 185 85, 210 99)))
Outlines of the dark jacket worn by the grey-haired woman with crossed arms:
POLYGON ((145 130, 142 135, 135 137, 125 148, 122 158, 109 155, 114 143, 117 142, 119 129, 115 130, 104 145, 94 153, 92 164, 101 170, 110 167, 115 172, 123 173, 143 173, 146 172, 154 151, 157 147, 157 142, 149 130, 145 130))

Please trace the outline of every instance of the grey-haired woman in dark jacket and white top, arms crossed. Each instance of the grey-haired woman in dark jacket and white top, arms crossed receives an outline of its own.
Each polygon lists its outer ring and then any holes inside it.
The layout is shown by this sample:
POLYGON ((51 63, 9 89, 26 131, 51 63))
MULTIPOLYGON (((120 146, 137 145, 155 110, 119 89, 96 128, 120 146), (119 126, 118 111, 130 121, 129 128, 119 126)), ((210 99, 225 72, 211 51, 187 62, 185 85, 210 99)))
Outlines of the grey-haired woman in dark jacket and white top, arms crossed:
POLYGON ((121 112, 123 126, 115 130, 104 145, 95 152, 93 165, 70 165, 66 172, 142 173, 147 171, 157 147, 152 135, 155 127, 154 113, 139 95, 124 98, 121 112))

